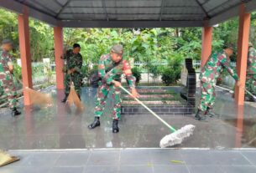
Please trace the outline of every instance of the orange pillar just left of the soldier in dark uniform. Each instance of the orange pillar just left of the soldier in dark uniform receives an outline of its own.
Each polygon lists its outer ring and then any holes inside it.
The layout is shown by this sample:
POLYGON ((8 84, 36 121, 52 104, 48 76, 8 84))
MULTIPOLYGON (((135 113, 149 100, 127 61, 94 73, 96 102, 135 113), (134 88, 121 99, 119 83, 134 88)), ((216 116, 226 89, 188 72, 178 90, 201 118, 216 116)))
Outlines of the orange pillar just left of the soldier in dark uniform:
POLYGON ((56 71, 56 88, 64 89, 64 74, 62 68, 64 65, 63 59, 60 56, 63 54, 63 30, 61 27, 54 28, 55 35, 55 71, 56 71))

